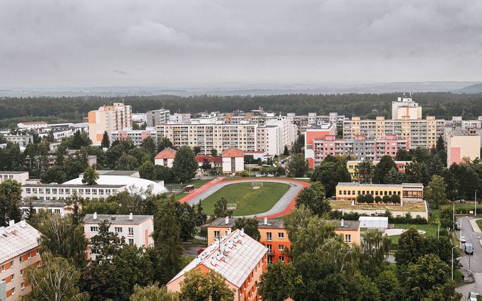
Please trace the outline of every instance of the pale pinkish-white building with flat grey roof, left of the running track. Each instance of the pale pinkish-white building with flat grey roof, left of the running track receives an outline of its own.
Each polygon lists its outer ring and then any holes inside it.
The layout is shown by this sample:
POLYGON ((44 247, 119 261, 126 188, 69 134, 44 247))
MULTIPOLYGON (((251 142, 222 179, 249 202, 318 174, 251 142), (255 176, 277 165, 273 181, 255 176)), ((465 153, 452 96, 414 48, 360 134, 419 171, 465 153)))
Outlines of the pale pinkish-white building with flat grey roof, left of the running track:
MULTIPOLYGON (((86 238, 98 234, 99 223, 104 220, 110 222, 110 232, 117 233, 119 237, 124 237, 127 244, 135 244, 137 247, 152 247, 154 240, 153 216, 134 216, 132 213, 127 215, 108 215, 108 214, 87 214, 83 218, 83 232, 86 238)), ((95 250, 87 250, 88 258, 95 259, 95 250)))

